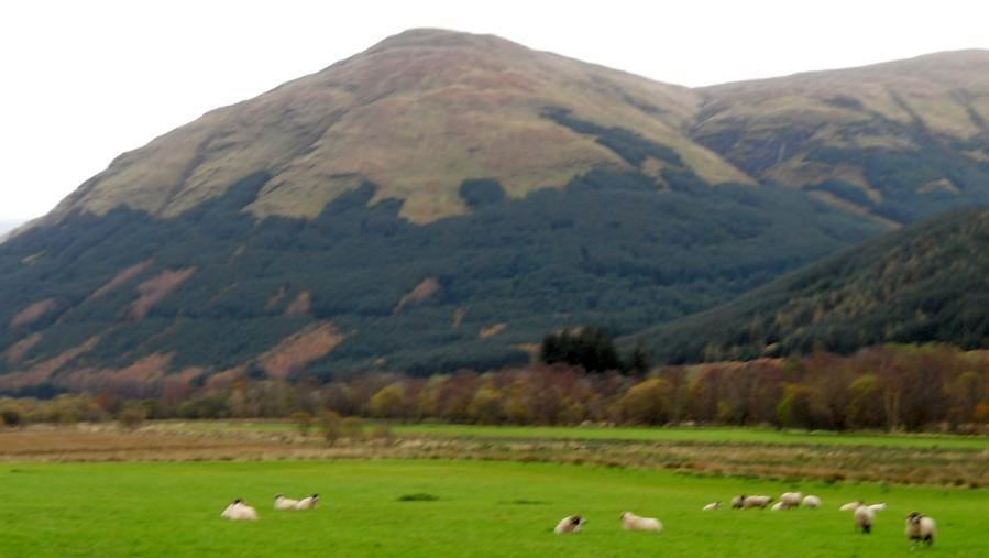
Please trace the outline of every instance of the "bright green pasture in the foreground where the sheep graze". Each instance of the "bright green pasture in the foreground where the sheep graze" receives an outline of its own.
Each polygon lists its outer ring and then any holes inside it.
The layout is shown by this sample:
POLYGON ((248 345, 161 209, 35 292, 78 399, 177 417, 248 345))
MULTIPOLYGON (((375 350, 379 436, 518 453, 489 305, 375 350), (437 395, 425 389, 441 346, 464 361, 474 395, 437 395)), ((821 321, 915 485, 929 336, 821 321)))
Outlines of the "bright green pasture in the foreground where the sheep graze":
POLYGON ((0 556, 903 556, 903 516, 938 522, 930 554, 989 556, 989 491, 790 485, 551 463, 477 461, 279 461, 186 463, 7 463, 0 469, 4 527, 0 556), (824 499, 823 510, 703 513, 738 492, 791 488, 824 499), (275 513, 277 492, 318 492, 314 512, 275 513), (400 502, 427 493, 435 502, 400 502), (256 523, 219 517, 233 497, 256 523), (871 536, 836 508, 856 497, 886 501, 871 536), (618 513, 659 517, 661 535, 625 533, 618 513), (551 533, 564 515, 589 517, 585 533, 551 533))

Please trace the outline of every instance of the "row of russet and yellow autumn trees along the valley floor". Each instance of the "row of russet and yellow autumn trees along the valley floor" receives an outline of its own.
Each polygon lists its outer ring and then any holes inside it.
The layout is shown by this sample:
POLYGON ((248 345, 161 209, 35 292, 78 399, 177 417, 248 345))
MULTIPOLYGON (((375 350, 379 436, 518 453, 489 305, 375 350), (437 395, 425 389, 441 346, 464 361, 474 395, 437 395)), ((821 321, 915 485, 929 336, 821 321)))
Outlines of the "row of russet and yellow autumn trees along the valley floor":
POLYGON ((490 425, 734 425, 806 429, 986 431, 989 354, 947 346, 883 346, 853 355, 818 352, 642 373, 589 373, 557 362, 430 378, 365 373, 316 379, 204 382, 166 379, 152 396, 109 392, 54 400, 0 400, 0 418, 366 417, 490 425))

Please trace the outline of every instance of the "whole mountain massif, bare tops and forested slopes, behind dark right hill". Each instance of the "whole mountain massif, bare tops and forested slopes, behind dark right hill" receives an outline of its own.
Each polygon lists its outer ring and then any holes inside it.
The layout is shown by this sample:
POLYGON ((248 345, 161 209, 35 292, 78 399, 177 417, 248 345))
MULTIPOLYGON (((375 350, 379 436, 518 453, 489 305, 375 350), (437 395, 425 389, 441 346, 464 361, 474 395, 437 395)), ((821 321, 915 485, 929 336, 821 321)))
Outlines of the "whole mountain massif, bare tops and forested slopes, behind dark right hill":
POLYGON ((916 96, 968 84, 961 114, 989 118, 966 77, 987 53, 938 56, 961 62, 833 73, 836 105, 813 75, 688 89, 402 33, 119 156, 0 244, 0 392, 486 369, 713 308, 982 200, 985 133, 916 96))

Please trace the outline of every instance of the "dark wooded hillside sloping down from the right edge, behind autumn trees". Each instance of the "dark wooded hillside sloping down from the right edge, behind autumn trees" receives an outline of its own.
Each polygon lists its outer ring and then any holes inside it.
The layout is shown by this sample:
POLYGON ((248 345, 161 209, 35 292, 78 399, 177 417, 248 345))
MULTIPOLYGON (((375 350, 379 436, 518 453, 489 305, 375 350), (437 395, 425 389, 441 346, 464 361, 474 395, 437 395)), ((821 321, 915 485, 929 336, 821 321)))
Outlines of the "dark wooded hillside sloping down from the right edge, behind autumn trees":
MULTIPOLYGON (((886 342, 989 347, 989 209, 950 211, 636 336, 670 362, 848 353, 886 342)), ((628 341, 631 344, 631 340, 628 341)))

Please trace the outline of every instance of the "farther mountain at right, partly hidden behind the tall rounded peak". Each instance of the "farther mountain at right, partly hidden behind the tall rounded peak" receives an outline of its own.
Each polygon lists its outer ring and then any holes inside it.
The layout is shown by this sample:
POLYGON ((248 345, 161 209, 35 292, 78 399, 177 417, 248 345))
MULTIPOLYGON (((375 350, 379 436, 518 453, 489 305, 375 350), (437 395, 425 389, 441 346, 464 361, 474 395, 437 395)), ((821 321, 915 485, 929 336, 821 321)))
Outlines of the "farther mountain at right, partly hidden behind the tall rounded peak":
POLYGON ((699 94, 692 138, 759 182, 893 223, 989 201, 989 51, 699 94))

